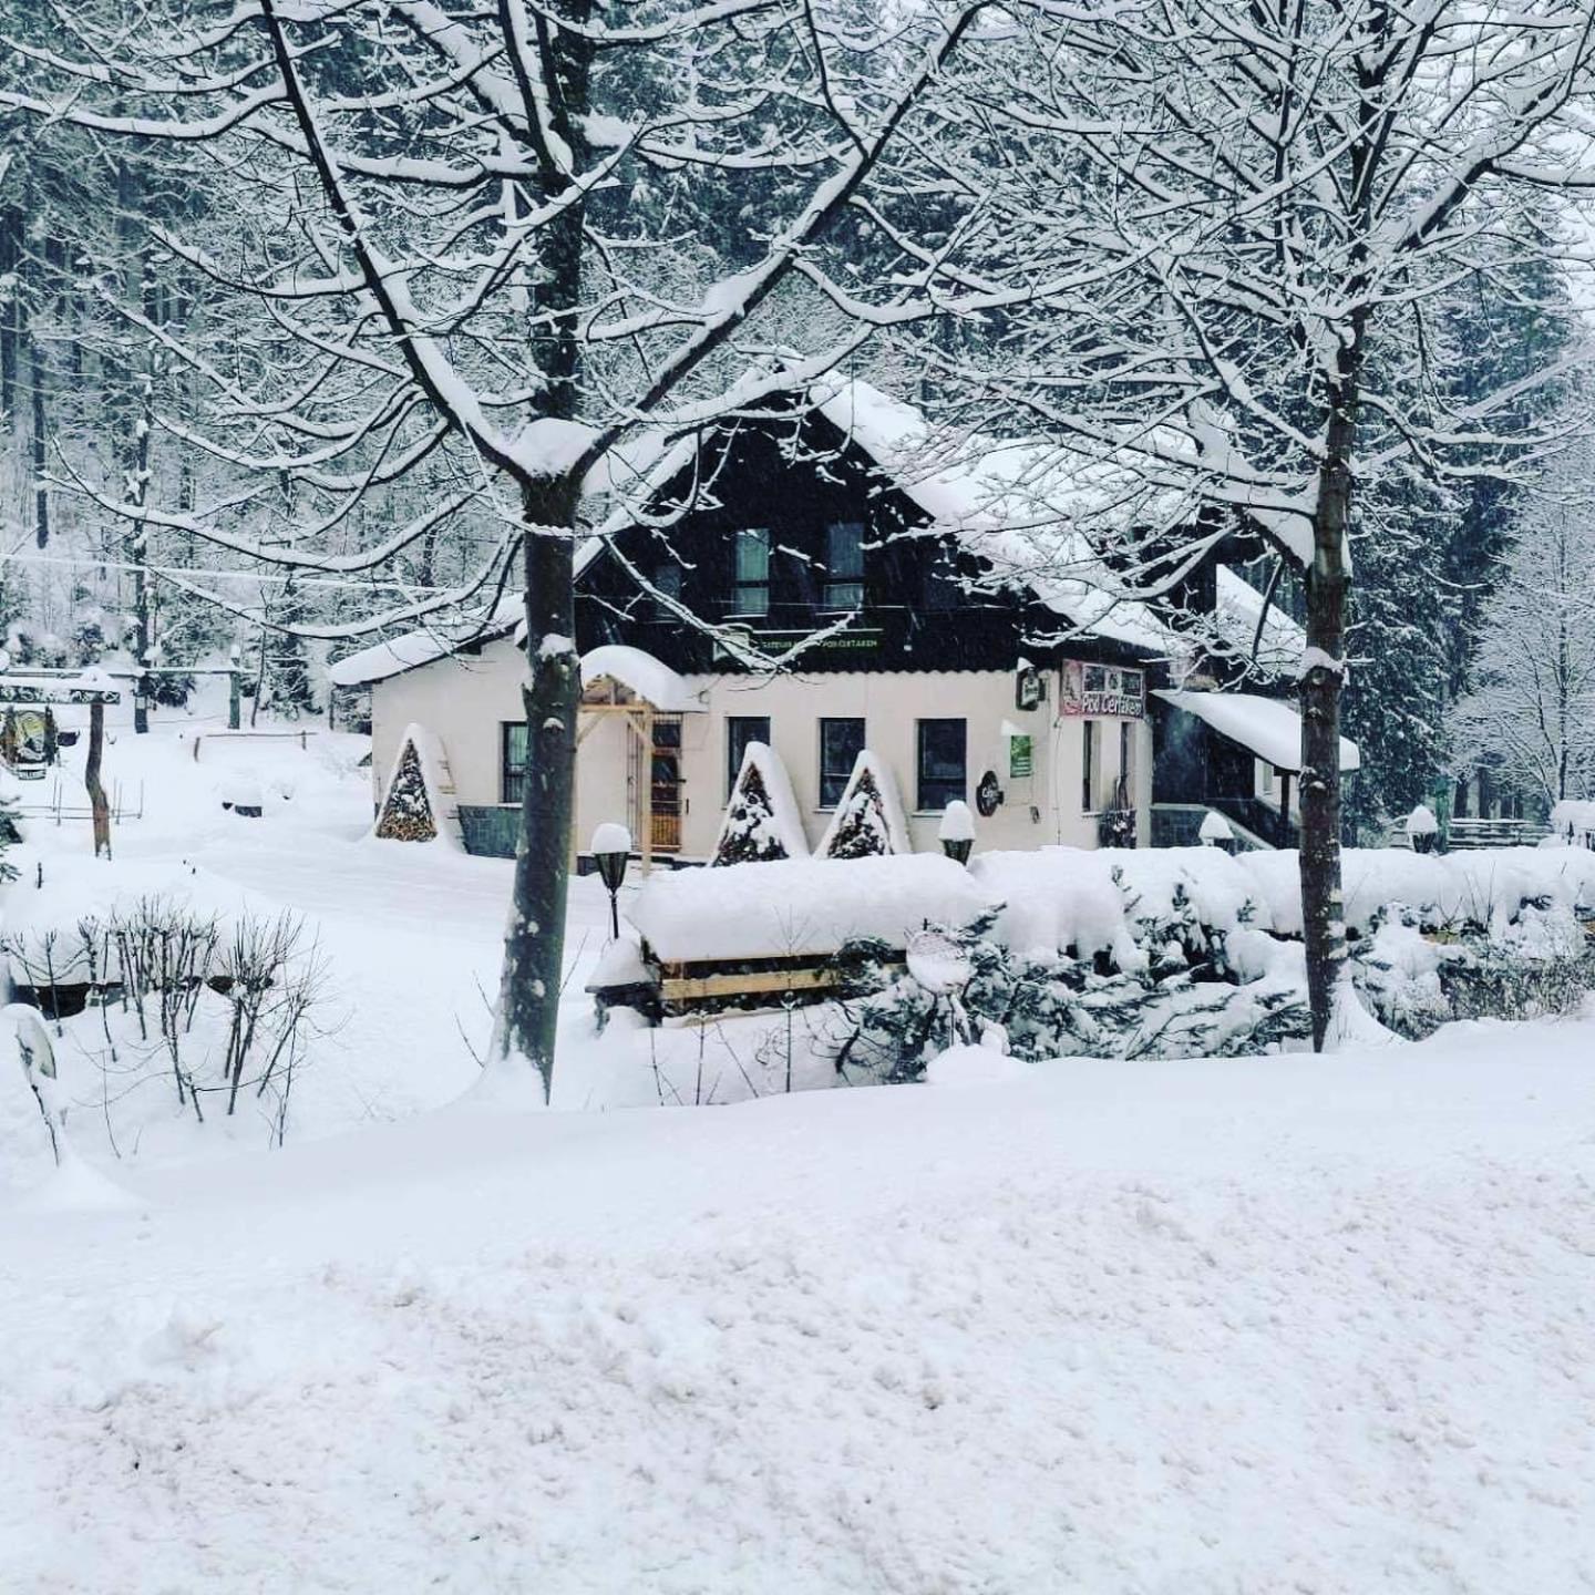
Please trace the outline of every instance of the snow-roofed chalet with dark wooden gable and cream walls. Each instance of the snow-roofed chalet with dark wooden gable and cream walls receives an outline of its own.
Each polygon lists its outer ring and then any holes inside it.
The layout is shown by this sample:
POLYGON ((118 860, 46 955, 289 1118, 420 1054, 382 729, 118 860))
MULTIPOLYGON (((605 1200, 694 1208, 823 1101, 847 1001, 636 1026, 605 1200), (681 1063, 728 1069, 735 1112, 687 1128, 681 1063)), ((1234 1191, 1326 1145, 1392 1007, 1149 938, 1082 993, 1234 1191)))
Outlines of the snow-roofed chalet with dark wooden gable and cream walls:
MULTIPOLYGON (((981 849, 1195 841, 1214 807, 1249 842, 1289 842, 1295 624, 1230 566, 1195 571, 1187 608, 1265 678, 1222 691, 1233 671, 1094 565, 1109 488, 1064 482, 1027 445, 936 461, 927 437, 917 410, 845 381, 627 456, 632 491, 611 491, 577 558, 576 836, 619 821, 648 858, 705 860, 764 743, 809 847, 864 754, 914 850, 936 850, 954 799, 981 849)), ((332 667, 335 686, 370 689, 378 796, 423 727, 477 853, 514 852, 518 617, 506 601, 466 636, 416 632, 332 667)))

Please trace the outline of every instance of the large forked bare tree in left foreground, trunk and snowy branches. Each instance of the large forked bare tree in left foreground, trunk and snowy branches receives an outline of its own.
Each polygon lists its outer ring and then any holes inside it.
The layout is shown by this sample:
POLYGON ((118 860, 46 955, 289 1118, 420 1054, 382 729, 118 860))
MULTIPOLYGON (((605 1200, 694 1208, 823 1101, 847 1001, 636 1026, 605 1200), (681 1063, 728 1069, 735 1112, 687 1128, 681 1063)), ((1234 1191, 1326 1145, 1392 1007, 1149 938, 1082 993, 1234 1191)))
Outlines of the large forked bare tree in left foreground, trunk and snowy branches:
POLYGON ((255 325, 234 314, 228 348, 129 309, 211 392, 204 427, 158 424, 233 486, 187 512, 140 502, 140 525, 351 579, 392 571, 443 525, 482 538, 450 590, 319 635, 482 612, 504 584, 523 589, 531 740, 493 1057, 530 1062, 544 1091, 584 478, 644 426, 691 435, 857 351, 871 317, 818 297, 809 348, 775 359, 761 332, 777 295, 850 234, 872 234, 874 306, 920 293, 936 249, 904 250, 855 201, 983 10, 943 0, 871 21, 813 0, 163 0, 131 21, 67 0, 62 37, 11 40, 22 73, 0 105, 207 152, 241 190, 228 233, 160 238, 255 325), (764 375, 746 378, 750 364, 764 375), (448 491, 333 552, 362 501, 439 463, 448 491), (292 522, 271 509, 284 475, 301 486, 292 522))

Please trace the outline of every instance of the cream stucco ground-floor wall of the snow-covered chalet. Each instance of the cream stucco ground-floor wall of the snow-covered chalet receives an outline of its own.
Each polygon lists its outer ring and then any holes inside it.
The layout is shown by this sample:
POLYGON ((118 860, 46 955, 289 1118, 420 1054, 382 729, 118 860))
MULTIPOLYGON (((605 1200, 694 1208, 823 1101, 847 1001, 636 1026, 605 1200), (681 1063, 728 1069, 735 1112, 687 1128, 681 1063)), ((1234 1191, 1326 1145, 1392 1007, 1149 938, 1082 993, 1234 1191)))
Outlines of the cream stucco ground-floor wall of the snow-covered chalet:
MULTIPOLYGON (((490 643, 474 659, 445 659, 391 676, 372 691, 373 778, 380 790, 412 723, 429 727, 448 753, 455 788, 463 804, 499 801, 501 726, 520 718, 523 660, 506 638, 490 643)), ((770 740, 793 782, 809 844, 820 841, 829 812, 820 807, 820 719, 858 718, 866 723, 866 745, 893 770, 909 815, 914 847, 933 852, 939 813, 916 812, 917 721, 963 719, 968 726, 968 791, 986 770, 997 774, 1005 801, 995 815, 976 815, 978 849, 1032 849, 1062 842, 1096 844, 1096 815, 1081 812, 1081 721, 1056 718, 1057 675, 1038 708, 1014 707, 1011 671, 857 671, 815 676, 699 676, 692 686, 705 710, 683 718, 683 834, 687 857, 707 855, 719 829, 726 801, 727 729, 740 715, 770 719, 770 740), (1010 777, 1008 738, 1013 726, 1032 737, 1032 774, 1010 777)), ((1102 774, 1097 791, 1118 777, 1116 719, 1101 719, 1102 774)), ((1148 836, 1152 801, 1152 731, 1131 723, 1137 834, 1148 836)), ((603 820, 632 823, 635 809, 628 778, 638 769, 627 753, 619 719, 592 729, 577 754, 576 837, 585 845, 603 820)), ((641 766, 646 770, 646 766, 641 766)))

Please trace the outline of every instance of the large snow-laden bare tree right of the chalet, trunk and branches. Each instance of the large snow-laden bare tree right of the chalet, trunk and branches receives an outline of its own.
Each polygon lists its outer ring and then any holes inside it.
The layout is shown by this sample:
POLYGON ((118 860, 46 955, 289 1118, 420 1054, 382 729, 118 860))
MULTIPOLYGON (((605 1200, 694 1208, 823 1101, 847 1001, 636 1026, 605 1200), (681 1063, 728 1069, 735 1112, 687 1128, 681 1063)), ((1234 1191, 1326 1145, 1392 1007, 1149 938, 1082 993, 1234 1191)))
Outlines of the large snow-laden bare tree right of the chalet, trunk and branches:
MULTIPOLYGON (((1016 0, 1008 14, 1006 48, 959 80, 957 112, 916 150, 965 228, 938 287, 981 305, 978 327, 922 352, 960 424, 1018 418, 1123 467, 1110 563, 1126 593, 1177 590, 1236 518, 1305 582, 1302 893, 1322 1046, 1345 960, 1357 483, 1530 467, 1534 392, 1557 373, 1461 394, 1447 305, 1472 284, 1522 305, 1531 266, 1582 254, 1547 196, 1595 183, 1579 110, 1595 11, 1147 0, 1078 18, 1016 0)), ((1091 561, 1081 576, 1101 581, 1091 561)))

